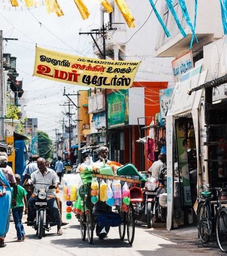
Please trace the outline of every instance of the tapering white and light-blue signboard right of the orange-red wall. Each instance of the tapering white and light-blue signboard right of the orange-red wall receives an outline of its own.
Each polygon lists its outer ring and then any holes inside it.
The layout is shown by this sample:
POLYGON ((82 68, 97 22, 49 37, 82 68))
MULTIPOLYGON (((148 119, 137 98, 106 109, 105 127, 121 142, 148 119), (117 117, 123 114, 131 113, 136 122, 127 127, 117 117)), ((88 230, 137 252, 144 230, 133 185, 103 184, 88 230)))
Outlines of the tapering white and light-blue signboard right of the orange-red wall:
POLYGON ((160 125, 165 125, 166 114, 170 106, 172 92, 174 88, 162 89, 159 91, 160 96, 160 125))

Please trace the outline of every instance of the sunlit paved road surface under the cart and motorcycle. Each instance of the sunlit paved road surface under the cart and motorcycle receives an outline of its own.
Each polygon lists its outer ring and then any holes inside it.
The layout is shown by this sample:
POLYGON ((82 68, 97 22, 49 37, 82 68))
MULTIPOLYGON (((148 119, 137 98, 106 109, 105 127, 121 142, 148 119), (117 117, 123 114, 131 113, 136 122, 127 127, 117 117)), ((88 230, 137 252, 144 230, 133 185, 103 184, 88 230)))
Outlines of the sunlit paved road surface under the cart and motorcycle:
MULTIPOLYGON (((63 209, 65 206, 63 207, 63 209)), ((65 214, 63 214, 65 215, 65 214)), ((23 221, 26 216, 23 217, 23 221)), ((26 225, 25 225, 26 226, 26 225)), ((27 239, 24 242, 16 240, 16 230, 13 222, 10 223, 10 231, 6 237, 7 246, 0 248, 0 255, 5 256, 52 256, 52 255, 226 255, 221 254, 218 248, 198 248, 196 227, 181 228, 174 231, 166 231, 164 224, 158 224, 155 228, 147 229, 146 226, 137 225, 133 246, 127 241, 120 241, 118 228, 111 228, 108 238, 99 240, 94 238, 94 244, 80 238, 79 223, 75 217, 67 226, 63 227, 63 235, 56 235, 57 228, 53 227, 43 239, 35 236, 31 227, 25 227, 27 239), (4 253, 4 254, 3 254, 4 253)))

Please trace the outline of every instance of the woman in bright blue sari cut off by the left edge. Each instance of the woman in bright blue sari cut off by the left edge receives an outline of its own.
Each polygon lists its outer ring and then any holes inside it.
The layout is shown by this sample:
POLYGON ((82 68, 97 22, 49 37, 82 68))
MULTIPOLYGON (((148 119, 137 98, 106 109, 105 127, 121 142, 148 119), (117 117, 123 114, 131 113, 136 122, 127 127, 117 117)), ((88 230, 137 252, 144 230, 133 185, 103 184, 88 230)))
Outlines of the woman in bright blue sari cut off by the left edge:
POLYGON ((0 163, 0 248, 6 246, 4 237, 10 225, 11 188, 0 163))

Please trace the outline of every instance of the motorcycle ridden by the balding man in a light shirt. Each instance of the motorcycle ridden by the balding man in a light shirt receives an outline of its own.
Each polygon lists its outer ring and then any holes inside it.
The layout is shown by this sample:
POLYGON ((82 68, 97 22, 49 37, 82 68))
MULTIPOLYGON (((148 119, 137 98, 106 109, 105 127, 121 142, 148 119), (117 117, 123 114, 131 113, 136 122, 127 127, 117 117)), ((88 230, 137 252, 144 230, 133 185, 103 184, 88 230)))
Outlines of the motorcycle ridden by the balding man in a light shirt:
POLYGON ((56 188, 53 185, 49 185, 46 183, 36 183, 35 185, 30 185, 30 187, 34 188, 35 194, 33 193, 31 197, 36 197, 35 207, 33 208, 33 215, 35 215, 34 221, 32 223, 28 222, 28 226, 32 226, 36 231, 36 235, 39 239, 45 235, 45 231, 51 230, 51 227, 54 226, 55 218, 51 212, 51 209, 47 207, 48 198, 51 199, 53 196, 47 196, 47 193, 50 189, 56 188), (44 185, 47 186, 44 188, 37 188, 36 185, 44 185))

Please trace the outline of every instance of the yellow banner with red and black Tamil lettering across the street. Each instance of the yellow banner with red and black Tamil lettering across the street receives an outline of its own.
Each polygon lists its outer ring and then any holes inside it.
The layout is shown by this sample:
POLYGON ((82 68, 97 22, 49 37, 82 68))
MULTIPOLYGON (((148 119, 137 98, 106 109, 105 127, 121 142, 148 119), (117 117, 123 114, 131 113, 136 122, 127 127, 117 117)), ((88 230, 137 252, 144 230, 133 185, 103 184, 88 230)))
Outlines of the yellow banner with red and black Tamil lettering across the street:
POLYGON ((90 59, 36 47, 33 75, 80 86, 128 89, 140 61, 90 59))

